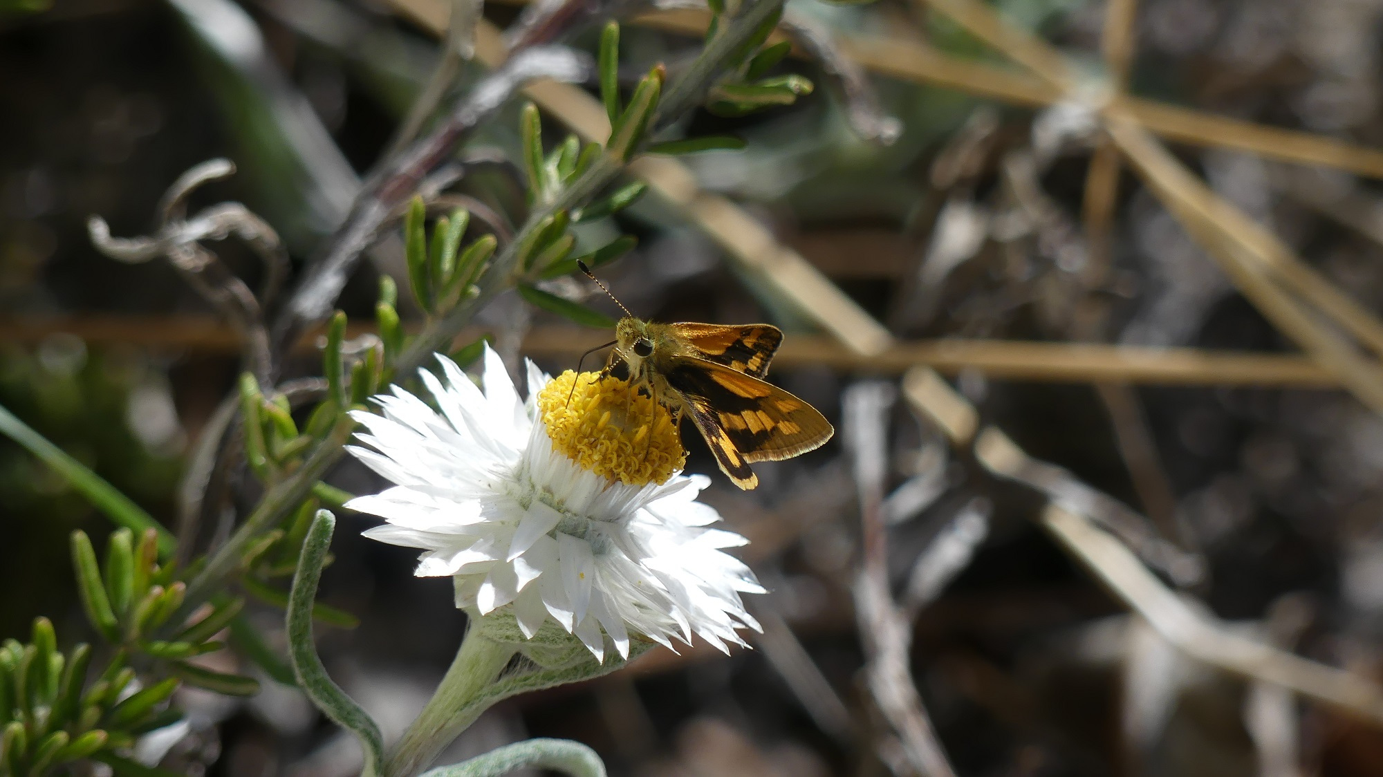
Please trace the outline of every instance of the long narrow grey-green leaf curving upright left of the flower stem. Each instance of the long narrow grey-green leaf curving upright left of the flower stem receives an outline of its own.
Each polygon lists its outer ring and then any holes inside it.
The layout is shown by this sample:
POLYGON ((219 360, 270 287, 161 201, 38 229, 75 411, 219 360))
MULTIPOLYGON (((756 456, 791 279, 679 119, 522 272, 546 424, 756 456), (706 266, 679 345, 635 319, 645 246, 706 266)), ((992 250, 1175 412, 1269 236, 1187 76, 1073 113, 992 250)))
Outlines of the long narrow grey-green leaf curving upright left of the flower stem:
POLYGON ((326 675, 317 647, 313 643, 313 603, 317 599, 317 583, 322 575, 322 563, 331 549, 332 531, 336 518, 326 510, 317 513, 313 528, 303 542, 303 554, 293 575, 293 589, 288 603, 288 644, 293 661, 293 672, 308 698, 339 726, 350 729, 360 738, 365 752, 364 777, 373 777, 384 762, 383 737, 379 726, 360 708, 346 691, 326 675))

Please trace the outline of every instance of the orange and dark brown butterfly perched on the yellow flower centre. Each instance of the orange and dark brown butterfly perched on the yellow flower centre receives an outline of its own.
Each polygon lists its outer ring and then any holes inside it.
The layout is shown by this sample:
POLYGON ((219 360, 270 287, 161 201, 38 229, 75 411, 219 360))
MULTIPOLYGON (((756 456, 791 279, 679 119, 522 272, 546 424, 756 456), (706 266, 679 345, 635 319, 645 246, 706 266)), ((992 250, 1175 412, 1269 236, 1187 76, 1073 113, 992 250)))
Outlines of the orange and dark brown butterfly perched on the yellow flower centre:
POLYGON ((816 408, 763 380, 781 343, 783 332, 768 324, 656 324, 625 315, 611 359, 624 361, 629 380, 649 387, 675 418, 690 416, 721 471, 750 489, 759 484, 751 462, 799 456, 835 433, 816 408))

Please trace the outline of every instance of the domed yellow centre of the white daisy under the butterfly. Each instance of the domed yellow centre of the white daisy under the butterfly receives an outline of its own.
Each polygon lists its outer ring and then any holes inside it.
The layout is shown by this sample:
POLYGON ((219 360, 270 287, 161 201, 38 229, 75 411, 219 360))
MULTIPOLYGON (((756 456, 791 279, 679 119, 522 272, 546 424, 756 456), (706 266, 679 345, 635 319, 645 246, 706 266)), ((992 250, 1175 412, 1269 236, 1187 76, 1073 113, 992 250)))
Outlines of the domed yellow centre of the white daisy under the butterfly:
POLYGON ((664 483, 687 459, 667 408, 618 377, 568 369, 538 394, 538 412, 555 451, 611 481, 664 483))

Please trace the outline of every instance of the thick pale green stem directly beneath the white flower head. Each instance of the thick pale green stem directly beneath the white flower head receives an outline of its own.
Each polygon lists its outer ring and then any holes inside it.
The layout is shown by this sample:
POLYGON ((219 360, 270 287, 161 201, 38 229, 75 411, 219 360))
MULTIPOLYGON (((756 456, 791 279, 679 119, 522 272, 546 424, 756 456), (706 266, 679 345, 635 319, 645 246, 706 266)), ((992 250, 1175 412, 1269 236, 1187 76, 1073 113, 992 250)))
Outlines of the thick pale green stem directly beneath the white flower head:
POLYGON ((431 765, 490 706, 476 701, 514 653, 514 646, 485 637, 473 625, 437 691, 389 753, 386 777, 414 777, 431 765))

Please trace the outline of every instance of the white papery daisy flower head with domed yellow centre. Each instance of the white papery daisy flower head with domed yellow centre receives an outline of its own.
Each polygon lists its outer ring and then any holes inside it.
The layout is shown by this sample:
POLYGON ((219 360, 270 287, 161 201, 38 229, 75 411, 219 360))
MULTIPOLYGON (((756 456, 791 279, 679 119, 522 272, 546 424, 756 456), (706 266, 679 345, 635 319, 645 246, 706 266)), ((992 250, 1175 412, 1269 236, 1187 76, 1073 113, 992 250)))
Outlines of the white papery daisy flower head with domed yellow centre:
POLYGON ((740 593, 763 593, 723 553, 748 542, 705 528, 721 518, 696 500, 704 476, 668 411, 624 380, 528 362, 523 402, 485 347, 484 393, 445 357, 445 382, 420 371, 438 413, 394 386, 355 412, 373 449, 351 452, 396 485, 347 506, 387 523, 365 536, 420 547, 418 577, 455 579, 456 606, 512 611, 528 639, 548 618, 597 661, 606 637, 621 657, 631 635, 671 647, 700 635, 722 651, 758 629, 740 593))

